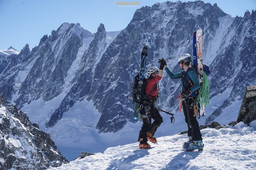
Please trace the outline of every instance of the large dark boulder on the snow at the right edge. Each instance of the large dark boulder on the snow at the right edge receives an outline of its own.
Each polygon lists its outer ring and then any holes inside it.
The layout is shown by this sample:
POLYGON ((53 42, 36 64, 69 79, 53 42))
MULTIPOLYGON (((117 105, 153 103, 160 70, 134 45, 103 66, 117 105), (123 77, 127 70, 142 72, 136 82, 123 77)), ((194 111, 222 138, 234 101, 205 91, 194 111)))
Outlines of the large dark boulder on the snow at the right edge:
POLYGON ((236 122, 256 120, 256 86, 247 86, 236 122))

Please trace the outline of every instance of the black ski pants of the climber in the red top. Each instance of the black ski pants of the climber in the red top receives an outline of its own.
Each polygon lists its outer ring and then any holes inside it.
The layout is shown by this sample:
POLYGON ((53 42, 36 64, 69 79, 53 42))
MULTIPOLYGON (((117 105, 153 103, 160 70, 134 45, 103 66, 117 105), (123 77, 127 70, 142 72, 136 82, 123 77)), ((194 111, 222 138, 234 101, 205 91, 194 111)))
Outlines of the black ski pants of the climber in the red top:
POLYGON ((146 116, 142 115, 142 122, 143 124, 140 130, 138 141, 140 141, 140 138, 142 138, 143 140, 140 143, 144 144, 148 142, 147 132, 154 135, 156 133, 157 128, 163 122, 163 117, 160 115, 156 107, 150 106, 149 116, 147 118, 146 116), (151 123, 152 119, 154 119, 153 123, 151 123))

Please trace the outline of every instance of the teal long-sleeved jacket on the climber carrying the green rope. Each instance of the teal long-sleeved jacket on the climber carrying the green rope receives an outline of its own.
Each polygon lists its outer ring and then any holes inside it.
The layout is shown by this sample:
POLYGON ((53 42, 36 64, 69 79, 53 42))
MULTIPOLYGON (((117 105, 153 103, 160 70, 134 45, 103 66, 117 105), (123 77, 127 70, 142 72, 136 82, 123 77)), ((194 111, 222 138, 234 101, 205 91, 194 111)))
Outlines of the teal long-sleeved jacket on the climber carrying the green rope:
MULTIPOLYGON (((168 67, 165 67, 164 69, 166 71, 166 73, 168 74, 168 76, 172 79, 177 79, 177 78, 182 78, 184 73, 185 73, 185 70, 182 70, 181 72, 179 73, 175 73, 173 74, 172 71, 170 71, 168 69, 168 67)), ((194 69, 189 69, 188 70, 188 77, 190 78, 190 80, 193 82, 193 87, 191 87, 191 92, 195 92, 199 87, 200 87, 200 84, 199 84, 199 81, 198 81, 198 78, 197 78, 197 74, 196 74, 196 71, 194 69)), ((188 80, 184 77, 183 79, 183 84, 185 86, 185 88, 188 88, 188 86, 190 85, 188 80)))

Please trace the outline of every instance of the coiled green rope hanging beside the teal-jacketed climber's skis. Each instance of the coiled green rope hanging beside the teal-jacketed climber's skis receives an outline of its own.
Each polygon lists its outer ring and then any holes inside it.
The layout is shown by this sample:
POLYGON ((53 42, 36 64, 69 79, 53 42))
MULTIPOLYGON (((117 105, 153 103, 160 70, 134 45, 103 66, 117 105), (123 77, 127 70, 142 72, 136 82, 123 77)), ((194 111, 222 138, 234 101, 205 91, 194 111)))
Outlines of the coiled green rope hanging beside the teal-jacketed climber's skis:
POLYGON ((208 77, 203 73, 203 83, 200 86, 199 94, 196 99, 196 107, 197 109, 201 109, 201 106, 204 105, 204 107, 211 104, 210 101, 210 89, 209 89, 209 82, 208 77), (200 104, 200 107, 198 107, 198 104, 200 104))

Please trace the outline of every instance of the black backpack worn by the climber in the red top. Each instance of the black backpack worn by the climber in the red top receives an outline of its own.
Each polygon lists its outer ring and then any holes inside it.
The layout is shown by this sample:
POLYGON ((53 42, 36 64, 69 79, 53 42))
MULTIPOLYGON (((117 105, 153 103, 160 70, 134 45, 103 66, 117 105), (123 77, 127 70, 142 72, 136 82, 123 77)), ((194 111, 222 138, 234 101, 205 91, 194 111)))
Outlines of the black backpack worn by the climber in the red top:
POLYGON ((133 83, 133 86, 132 86, 132 100, 133 100, 133 102, 137 102, 137 103, 140 103, 140 104, 141 104, 142 101, 143 101, 143 99, 144 99, 146 96, 148 96, 148 94, 149 94, 150 92, 152 92, 152 91, 155 89, 157 83, 156 83, 156 84, 154 85, 154 87, 146 94, 146 85, 147 85, 148 79, 143 76, 143 84, 142 84, 142 86, 141 86, 141 95, 138 96, 138 98, 137 98, 137 90, 138 90, 139 81, 140 81, 140 75, 138 74, 138 75, 136 75, 136 76, 134 77, 134 83, 133 83))

